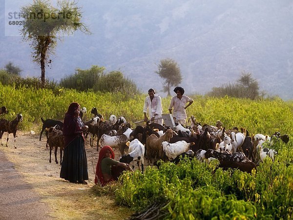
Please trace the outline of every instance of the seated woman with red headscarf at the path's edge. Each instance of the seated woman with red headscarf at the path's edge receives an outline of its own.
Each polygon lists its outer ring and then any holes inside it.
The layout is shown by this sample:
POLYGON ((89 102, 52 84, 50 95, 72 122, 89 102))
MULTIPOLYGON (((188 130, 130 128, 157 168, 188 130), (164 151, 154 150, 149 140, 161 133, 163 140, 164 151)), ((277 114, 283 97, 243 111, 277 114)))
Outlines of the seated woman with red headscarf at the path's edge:
POLYGON ((120 163, 114 158, 115 154, 111 147, 105 146, 101 149, 96 167, 95 184, 100 183, 101 186, 105 186, 108 182, 118 180, 123 171, 132 171, 129 164, 120 163))

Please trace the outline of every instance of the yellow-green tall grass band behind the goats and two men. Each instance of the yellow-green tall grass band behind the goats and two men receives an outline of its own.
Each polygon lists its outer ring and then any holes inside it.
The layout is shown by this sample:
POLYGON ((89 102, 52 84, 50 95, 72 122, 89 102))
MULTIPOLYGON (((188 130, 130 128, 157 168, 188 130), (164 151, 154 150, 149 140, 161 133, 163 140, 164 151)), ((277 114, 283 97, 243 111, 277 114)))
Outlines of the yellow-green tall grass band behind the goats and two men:
MULTIPOLYGON (((96 107, 107 119, 111 114, 126 117, 130 123, 143 119, 143 105, 146 94, 129 96, 117 92, 78 92, 74 89, 16 88, 0 85, 0 105, 6 106, 8 114, 1 115, 13 119, 22 113, 20 128, 29 130, 33 124, 40 124, 41 117, 63 120, 71 102, 86 107, 85 118, 90 118, 90 110, 96 107)), ((293 134, 293 102, 281 99, 258 100, 231 97, 210 98, 193 96, 194 103, 188 107, 188 116, 194 115, 201 124, 215 125, 221 120, 226 128, 245 127, 251 133, 272 134, 275 131, 293 134)), ((163 110, 168 112, 170 99, 162 98, 163 110)), ((132 124, 132 126, 135 126, 132 124)), ((41 129, 41 128, 40 128, 41 129)))

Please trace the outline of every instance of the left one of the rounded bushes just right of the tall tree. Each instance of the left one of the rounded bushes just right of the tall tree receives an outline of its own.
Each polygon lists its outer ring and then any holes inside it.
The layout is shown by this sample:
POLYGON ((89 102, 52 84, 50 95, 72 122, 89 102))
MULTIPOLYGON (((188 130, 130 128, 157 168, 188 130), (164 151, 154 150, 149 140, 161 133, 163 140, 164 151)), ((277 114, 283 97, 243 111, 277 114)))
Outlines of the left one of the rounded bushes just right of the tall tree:
POLYGON ((92 89, 104 74, 105 67, 91 66, 90 69, 77 68, 74 75, 61 79, 60 86, 64 88, 74 88, 79 91, 92 89))

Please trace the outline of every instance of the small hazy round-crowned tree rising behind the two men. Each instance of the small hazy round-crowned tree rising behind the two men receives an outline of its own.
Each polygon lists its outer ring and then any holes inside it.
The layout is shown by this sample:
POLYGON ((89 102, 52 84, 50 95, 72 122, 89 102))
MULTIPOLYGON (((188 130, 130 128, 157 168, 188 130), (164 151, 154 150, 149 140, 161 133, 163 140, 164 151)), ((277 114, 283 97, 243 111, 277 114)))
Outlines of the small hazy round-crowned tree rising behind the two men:
POLYGON ((163 91, 167 92, 170 96, 170 87, 180 84, 182 81, 182 74, 178 64, 172 59, 163 59, 158 65, 158 71, 156 73, 163 79, 165 84, 163 85, 163 91))

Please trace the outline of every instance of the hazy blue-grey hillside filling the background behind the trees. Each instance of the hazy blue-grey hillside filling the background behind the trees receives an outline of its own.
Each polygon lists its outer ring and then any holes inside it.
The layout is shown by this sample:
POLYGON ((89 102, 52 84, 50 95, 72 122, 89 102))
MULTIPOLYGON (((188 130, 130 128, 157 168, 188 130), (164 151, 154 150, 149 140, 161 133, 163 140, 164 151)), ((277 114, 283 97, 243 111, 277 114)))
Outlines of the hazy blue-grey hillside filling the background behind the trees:
MULTIPOLYGON (((163 80, 154 73, 156 64, 171 58, 179 64, 181 86, 189 94, 234 82, 246 71, 262 90, 293 99, 291 0, 88 0, 78 4, 92 35, 76 32, 64 37, 46 70, 50 79, 72 74, 76 67, 99 65, 108 71, 120 69, 143 91, 160 90, 163 80)), ((1 29, 5 9, 1 8, 1 29)), ((21 37, 1 33, 0 68, 12 61, 24 70, 23 76, 40 76, 28 44, 21 43, 21 37)))

